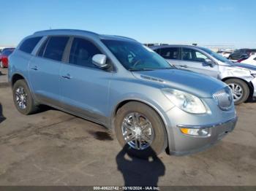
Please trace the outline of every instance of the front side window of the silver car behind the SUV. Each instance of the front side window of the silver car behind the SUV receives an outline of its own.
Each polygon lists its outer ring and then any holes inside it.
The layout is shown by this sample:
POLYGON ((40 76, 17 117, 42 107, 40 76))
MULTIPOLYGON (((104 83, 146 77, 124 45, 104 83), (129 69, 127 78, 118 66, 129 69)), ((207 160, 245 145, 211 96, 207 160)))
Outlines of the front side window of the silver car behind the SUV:
POLYGON ((181 58, 184 61, 204 62, 207 57, 197 50, 183 48, 181 58))

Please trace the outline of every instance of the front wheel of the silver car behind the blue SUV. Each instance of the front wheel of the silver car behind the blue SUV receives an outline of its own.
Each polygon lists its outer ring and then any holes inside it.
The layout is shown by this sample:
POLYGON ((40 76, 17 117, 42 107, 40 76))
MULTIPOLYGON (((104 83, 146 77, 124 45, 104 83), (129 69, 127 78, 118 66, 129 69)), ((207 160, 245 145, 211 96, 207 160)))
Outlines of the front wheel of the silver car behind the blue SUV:
POLYGON ((241 104, 249 97, 249 87, 241 79, 227 79, 225 83, 233 93, 234 104, 241 104))

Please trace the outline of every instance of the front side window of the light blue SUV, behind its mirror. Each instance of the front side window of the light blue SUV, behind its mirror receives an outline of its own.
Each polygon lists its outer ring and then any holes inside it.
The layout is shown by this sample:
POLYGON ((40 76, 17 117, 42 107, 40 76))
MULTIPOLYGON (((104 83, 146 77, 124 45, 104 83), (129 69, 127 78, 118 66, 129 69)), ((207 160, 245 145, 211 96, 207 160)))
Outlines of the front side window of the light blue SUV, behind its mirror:
POLYGON ((101 52, 94 44, 86 39, 75 38, 69 55, 69 63, 97 68, 92 63, 92 57, 97 54, 101 54, 101 52))

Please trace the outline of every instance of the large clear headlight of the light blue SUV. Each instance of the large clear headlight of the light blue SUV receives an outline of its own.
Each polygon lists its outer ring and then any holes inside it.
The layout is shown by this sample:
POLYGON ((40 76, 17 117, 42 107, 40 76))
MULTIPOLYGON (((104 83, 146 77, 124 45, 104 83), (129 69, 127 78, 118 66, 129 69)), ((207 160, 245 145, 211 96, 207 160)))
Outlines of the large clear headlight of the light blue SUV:
POLYGON ((195 95, 169 88, 163 89, 162 92, 173 104, 185 112, 192 114, 206 113, 206 106, 204 106, 200 98, 197 98, 195 95))

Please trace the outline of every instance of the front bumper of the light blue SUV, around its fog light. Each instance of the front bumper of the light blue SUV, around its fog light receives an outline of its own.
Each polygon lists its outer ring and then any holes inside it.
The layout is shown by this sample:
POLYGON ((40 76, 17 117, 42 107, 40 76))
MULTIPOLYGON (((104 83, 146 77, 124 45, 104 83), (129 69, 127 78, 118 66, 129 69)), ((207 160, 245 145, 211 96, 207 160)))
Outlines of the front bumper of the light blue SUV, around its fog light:
POLYGON ((225 122, 208 125, 177 125, 177 128, 210 128, 211 136, 188 136, 180 133, 180 135, 176 137, 176 150, 170 151, 170 154, 187 155, 211 147, 235 128, 237 120, 238 117, 234 117, 225 122))

